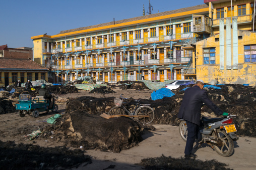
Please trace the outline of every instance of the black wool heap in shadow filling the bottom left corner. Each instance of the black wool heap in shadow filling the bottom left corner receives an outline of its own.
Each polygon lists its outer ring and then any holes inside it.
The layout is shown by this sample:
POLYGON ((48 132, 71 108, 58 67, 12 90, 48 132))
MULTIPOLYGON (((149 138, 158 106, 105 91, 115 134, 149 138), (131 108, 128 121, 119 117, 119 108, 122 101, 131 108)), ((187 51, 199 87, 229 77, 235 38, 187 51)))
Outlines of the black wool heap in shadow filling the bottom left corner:
POLYGON ((15 144, 0 140, 1 169, 58 169, 92 163, 91 157, 80 149, 41 147, 33 144, 15 144))

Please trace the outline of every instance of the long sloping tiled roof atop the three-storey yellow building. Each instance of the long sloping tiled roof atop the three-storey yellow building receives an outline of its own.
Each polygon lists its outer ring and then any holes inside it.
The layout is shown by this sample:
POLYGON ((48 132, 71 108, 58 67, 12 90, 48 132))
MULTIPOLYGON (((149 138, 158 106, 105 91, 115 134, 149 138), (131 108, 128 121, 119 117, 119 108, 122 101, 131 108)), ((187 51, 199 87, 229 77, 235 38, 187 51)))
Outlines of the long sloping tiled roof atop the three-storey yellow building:
MULTIPOLYGON (((162 12, 162 13, 156 13, 156 14, 151 14, 151 15, 146 15, 146 16, 140 16, 140 17, 135 17, 135 18, 130 18, 130 19, 119 20, 119 21, 115 21, 115 24, 122 24, 122 23, 127 23, 127 22, 138 21, 138 20, 167 16, 167 15, 176 14, 176 13, 184 13, 187 11, 194 11, 194 10, 200 10, 200 9, 205 9, 205 8, 209 8, 209 6, 206 4, 202 4, 202 5, 198 5, 198 6, 194 6, 194 7, 187 7, 187 8, 182 8, 182 9, 178 9, 178 10, 166 11, 166 12, 162 12)), ((75 31, 110 26, 113 24, 114 24, 114 22, 109 22, 109 23, 103 23, 103 24, 98 24, 98 25, 94 25, 94 26, 81 27, 81 28, 77 28, 77 29, 60 31, 59 34, 65 34, 65 33, 70 33, 70 32, 75 32, 75 31)))

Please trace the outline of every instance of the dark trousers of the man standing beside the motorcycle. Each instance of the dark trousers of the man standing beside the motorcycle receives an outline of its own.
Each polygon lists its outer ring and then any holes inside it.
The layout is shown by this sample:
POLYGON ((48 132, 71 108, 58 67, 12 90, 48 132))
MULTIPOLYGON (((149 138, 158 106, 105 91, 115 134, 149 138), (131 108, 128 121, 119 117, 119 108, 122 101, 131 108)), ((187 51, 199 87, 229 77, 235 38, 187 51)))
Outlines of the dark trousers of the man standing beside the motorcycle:
POLYGON ((191 154, 193 150, 193 145, 195 139, 198 137, 200 131, 199 126, 195 123, 186 121, 187 125, 187 138, 186 138, 186 147, 185 147, 185 154, 191 154))

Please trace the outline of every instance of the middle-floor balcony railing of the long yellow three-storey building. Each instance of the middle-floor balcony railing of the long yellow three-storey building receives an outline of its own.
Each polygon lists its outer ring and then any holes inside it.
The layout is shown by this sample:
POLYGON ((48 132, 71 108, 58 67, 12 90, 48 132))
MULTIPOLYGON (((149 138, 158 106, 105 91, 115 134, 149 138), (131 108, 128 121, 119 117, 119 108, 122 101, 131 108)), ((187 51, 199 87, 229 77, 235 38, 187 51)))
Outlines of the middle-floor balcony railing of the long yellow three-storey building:
POLYGON ((84 63, 76 65, 62 65, 52 66, 54 70, 67 70, 67 69, 87 69, 87 68, 107 68, 107 67, 126 67, 126 66, 153 66, 161 64, 187 64, 189 57, 184 58, 167 58, 167 59, 153 59, 153 60, 135 60, 135 61, 118 61, 107 63, 84 63))

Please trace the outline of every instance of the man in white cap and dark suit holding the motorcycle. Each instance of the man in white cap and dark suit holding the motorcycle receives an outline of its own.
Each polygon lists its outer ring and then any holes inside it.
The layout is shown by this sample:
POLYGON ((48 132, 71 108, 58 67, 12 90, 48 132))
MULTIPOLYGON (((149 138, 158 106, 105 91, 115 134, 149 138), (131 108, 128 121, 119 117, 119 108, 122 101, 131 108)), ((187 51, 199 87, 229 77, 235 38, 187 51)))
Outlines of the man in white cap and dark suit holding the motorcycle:
MULTIPOLYGON (((185 94, 179 108, 178 118, 184 119, 187 125, 187 139, 185 146, 185 157, 196 158, 192 153, 196 136, 199 139, 199 126, 201 122, 201 107, 203 103, 207 105, 217 115, 222 115, 223 111, 219 109, 203 90, 204 81, 198 80, 196 85, 185 90, 185 94)), ((225 113, 226 115, 227 113, 225 113)), ((200 140, 200 139, 199 139, 200 140)))

